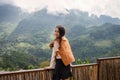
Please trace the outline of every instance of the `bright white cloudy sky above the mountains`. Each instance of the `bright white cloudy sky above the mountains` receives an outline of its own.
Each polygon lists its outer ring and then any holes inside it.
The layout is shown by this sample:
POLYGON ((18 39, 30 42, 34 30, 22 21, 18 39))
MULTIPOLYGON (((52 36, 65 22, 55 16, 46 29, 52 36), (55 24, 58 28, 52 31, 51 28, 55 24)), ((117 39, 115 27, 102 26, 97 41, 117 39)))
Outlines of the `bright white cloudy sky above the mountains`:
POLYGON ((44 7, 50 13, 66 13, 65 9, 78 9, 98 16, 104 14, 120 18, 120 0, 0 0, 0 4, 14 4, 29 12, 44 7))

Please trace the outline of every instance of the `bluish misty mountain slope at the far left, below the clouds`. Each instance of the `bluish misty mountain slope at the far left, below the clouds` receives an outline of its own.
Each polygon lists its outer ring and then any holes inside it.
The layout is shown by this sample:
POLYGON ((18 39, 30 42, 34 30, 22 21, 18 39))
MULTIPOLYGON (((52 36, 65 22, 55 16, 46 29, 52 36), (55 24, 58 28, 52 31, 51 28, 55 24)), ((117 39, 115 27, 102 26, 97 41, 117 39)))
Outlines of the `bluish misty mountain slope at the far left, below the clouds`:
POLYGON ((19 7, 9 4, 0 5, 0 39, 8 37, 27 15, 29 14, 19 7))

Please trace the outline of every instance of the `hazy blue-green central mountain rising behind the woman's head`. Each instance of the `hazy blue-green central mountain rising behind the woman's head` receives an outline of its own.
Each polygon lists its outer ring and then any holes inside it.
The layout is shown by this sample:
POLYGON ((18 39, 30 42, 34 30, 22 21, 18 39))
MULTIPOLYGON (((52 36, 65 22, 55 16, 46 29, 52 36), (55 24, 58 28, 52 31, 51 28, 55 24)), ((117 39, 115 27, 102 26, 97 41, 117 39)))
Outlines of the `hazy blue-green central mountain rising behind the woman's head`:
POLYGON ((68 36, 73 38, 84 33, 84 30, 88 27, 98 26, 105 23, 120 23, 119 19, 111 18, 105 15, 102 15, 99 18, 95 15, 89 16, 87 12, 78 10, 69 10, 68 12, 69 14, 66 15, 53 15, 49 14, 46 8, 34 12, 19 22, 16 29, 9 35, 8 39, 11 41, 27 41, 34 45, 34 43, 38 44, 38 42, 33 41, 35 39, 42 43, 49 42, 51 39, 49 36, 51 36, 50 34, 52 34, 55 26, 58 24, 63 24, 66 26, 68 36), (74 34, 76 32, 74 28, 77 28, 76 30, 79 33, 74 34), (73 33, 69 34, 69 32, 73 33))

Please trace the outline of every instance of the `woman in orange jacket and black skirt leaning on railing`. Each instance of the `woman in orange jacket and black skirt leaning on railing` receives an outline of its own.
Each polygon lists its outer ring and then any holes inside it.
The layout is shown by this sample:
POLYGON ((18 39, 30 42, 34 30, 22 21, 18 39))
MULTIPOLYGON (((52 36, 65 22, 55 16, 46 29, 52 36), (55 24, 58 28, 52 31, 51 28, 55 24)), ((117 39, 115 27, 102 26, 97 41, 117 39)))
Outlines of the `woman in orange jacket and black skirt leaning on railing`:
POLYGON ((50 43, 53 49, 50 68, 55 68, 52 80, 66 80, 72 76, 70 64, 75 61, 71 47, 65 37, 65 28, 56 26, 54 32, 55 39, 50 43))

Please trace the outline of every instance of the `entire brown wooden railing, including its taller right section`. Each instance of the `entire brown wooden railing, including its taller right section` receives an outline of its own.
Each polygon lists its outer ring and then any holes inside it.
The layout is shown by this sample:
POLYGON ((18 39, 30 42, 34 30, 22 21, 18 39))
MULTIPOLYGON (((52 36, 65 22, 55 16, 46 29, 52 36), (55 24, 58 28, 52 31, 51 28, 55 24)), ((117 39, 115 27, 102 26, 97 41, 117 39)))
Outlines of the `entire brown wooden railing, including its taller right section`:
MULTIPOLYGON (((73 65, 71 80, 120 80, 120 57, 99 58, 97 63, 73 65)), ((51 80, 53 69, 0 73, 0 80, 51 80)))

